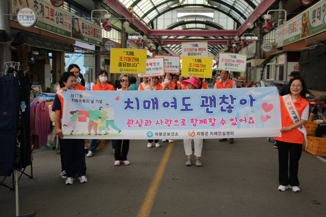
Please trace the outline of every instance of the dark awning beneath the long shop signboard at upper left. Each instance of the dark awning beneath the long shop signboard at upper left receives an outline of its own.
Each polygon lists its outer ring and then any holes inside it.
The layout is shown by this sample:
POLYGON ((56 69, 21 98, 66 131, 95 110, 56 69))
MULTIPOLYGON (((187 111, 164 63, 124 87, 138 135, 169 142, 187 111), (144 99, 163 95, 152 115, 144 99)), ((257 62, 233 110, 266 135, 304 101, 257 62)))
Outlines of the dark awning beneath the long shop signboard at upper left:
POLYGON ((67 53, 72 53, 74 51, 74 48, 71 43, 60 42, 54 39, 48 39, 42 36, 38 36, 26 32, 20 32, 18 36, 18 43, 20 46, 27 44, 30 46, 64 51, 67 53))

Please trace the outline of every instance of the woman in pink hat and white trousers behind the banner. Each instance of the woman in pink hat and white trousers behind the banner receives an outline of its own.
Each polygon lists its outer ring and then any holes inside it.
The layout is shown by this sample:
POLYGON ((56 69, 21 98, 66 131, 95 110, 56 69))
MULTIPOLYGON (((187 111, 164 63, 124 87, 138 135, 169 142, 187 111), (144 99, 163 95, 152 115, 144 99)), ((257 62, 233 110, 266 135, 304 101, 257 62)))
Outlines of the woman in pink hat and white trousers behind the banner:
MULTIPOLYGON (((182 81, 183 84, 187 85, 188 89, 199 89, 199 81, 200 79, 197 76, 194 76, 188 80, 182 81)), ((190 132, 189 132, 190 133, 190 132)), ((194 132, 193 132, 194 133, 194 132)), ((192 165, 192 149, 191 149, 191 140, 192 139, 183 139, 184 150, 187 155, 187 162, 186 166, 192 165)), ((203 139, 194 139, 194 146, 195 146, 195 164, 197 167, 201 167, 202 163, 199 160, 199 157, 202 156, 202 149, 203 149, 203 139)))

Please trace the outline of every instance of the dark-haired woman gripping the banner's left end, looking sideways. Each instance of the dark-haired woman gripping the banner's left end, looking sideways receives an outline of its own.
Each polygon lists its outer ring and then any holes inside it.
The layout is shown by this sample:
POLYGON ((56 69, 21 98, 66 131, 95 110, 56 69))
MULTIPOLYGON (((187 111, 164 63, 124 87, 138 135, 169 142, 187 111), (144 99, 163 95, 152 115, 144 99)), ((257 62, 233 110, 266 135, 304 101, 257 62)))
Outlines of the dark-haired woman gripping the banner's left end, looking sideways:
MULTIPOLYGON (((77 85, 77 79, 72 72, 64 72, 59 79, 60 88, 74 90, 77 85)), ((85 139, 65 139, 61 130, 61 120, 63 111, 63 95, 64 90, 60 89, 54 96, 54 103, 52 110, 55 112, 55 133, 59 137, 60 142, 60 155, 63 156, 63 168, 61 177, 66 176, 66 184, 72 184, 77 174, 81 183, 87 182, 86 178, 86 162, 84 153, 85 139)), ((62 164, 62 161, 61 161, 62 164)))

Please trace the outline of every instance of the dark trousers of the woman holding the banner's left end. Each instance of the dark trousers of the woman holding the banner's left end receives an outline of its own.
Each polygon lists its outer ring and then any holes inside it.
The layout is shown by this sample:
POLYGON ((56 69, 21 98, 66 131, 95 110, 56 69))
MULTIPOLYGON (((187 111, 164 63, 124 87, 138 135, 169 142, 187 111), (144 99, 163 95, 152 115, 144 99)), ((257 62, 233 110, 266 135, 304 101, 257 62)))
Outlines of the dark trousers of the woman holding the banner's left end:
POLYGON ((63 150, 63 161, 67 178, 86 175, 85 139, 61 139, 60 149, 63 150))

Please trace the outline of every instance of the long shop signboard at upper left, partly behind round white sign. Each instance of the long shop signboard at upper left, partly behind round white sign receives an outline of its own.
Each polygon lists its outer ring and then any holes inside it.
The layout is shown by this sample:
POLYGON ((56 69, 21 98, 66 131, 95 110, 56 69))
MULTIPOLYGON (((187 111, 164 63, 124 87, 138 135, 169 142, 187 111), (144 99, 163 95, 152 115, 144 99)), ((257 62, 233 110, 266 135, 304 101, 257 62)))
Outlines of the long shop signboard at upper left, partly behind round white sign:
MULTIPOLYGON (((100 26, 44 0, 12 0, 13 15, 16 15, 23 7, 30 7, 35 11, 38 17, 36 28, 84 43, 102 46, 102 28, 100 26)), ((17 20, 15 16, 14 20, 17 20)))

